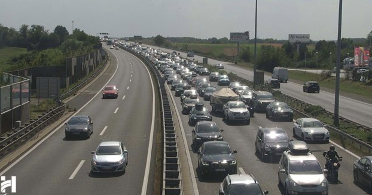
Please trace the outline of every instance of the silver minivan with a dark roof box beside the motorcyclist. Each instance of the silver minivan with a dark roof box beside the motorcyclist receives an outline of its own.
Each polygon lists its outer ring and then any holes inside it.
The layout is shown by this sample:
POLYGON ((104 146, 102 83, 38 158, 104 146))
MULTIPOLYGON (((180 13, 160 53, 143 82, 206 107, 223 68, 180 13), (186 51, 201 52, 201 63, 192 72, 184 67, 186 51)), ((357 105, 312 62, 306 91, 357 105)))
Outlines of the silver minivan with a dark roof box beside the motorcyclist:
POLYGON ((279 162, 278 180, 285 194, 328 194, 328 181, 317 157, 304 141, 290 141, 279 162))

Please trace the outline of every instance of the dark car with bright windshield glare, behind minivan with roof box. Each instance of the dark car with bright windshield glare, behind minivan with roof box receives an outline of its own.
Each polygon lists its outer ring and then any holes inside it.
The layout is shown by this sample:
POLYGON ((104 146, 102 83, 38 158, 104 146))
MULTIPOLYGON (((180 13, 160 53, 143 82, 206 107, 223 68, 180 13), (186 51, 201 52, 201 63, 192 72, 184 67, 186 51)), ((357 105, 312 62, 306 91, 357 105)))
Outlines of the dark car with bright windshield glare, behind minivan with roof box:
POLYGON ((262 162, 270 158, 270 162, 275 157, 281 157, 287 150, 289 138, 282 128, 259 128, 256 136, 256 154, 261 157, 262 162))

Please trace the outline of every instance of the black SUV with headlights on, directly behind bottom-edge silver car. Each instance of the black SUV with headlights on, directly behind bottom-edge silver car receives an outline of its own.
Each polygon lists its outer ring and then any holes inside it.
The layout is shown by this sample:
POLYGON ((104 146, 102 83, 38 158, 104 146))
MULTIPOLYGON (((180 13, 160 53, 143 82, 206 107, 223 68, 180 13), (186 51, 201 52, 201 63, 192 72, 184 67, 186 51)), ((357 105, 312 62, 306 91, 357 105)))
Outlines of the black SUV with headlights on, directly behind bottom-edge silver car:
POLYGON ((237 160, 225 141, 207 141, 198 151, 198 168, 201 175, 206 174, 236 174, 237 160))

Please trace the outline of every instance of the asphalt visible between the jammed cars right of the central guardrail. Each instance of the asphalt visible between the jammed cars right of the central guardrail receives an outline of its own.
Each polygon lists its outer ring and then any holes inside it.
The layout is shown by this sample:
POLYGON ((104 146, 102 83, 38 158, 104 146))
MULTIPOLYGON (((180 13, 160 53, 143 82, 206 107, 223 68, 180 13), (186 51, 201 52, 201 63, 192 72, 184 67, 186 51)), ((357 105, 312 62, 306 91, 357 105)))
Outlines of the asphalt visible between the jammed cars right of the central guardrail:
MULTIPOLYGON (((206 77, 206 76, 205 76, 206 77)), ((221 89, 227 86, 217 86, 217 82, 212 82, 217 89, 221 89)), ((170 89, 170 86, 169 86, 170 89)), ((169 90, 170 91, 170 90, 169 90)), ((174 91, 171 91, 174 97, 174 91)), ((199 97, 199 99, 206 105, 206 107, 211 110, 209 101, 205 101, 199 97)), ((187 146, 191 153, 191 161, 193 165, 193 171, 196 175, 196 182, 198 186, 199 194, 201 195, 215 195, 218 194, 218 188, 224 176, 215 175, 202 178, 198 172, 198 158, 195 151, 192 149, 192 130, 188 124, 188 115, 182 115, 182 106, 179 97, 174 97, 176 107, 181 116, 181 121, 183 128, 185 130, 187 138, 187 146)), ((259 127, 278 127, 286 130, 288 136, 292 138, 292 128, 294 122, 273 122, 266 118, 265 114, 254 114, 251 118, 250 125, 243 125, 239 123, 227 125, 224 120, 222 120, 222 114, 212 113, 213 121, 217 123, 220 129, 224 132, 224 141, 230 144, 232 150, 237 150, 238 153, 234 156, 238 160, 238 169, 240 173, 251 173, 259 181, 263 190, 268 190, 269 194, 278 195, 285 194, 283 189, 278 186, 278 162, 276 159, 273 163, 263 163, 261 162, 259 156, 255 154, 255 140, 256 134, 259 127)), ((293 138, 296 140, 296 138, 293 138)), ((325 159, 322 156, 323 151, 328 150, 330 144, 328 143, 308 143, 310 150, 318 158, 319 162, 323 165, 325 159)), ((352 194, 367 194, 363 189, 354 185, 353 183, 353 162, 357 160, 357 157, 346 151, 336 147, 340 156, 343 156, 343 161, 341 162, 341 168, 339 172, 339 184, 329 185, 329 195, 352 195, 352 194)))

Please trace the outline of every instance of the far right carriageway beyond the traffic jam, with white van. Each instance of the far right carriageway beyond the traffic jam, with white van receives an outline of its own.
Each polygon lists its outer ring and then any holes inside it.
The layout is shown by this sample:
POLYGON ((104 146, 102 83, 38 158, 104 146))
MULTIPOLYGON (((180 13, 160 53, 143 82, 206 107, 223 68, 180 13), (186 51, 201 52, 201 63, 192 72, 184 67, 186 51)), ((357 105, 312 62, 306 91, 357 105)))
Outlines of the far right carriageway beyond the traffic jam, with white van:
MULTIPOLYGON (((152 45, 144 45, 146 47, 151 47, 155 49, 162 49, 166 52, 172 52, 172 49, 165 49, 160 47, 155 47, 152 45)), ((203 57, 195 55, 194 57, 187 57, 185 52, 180 52, 180 56, 188 58, 190 60, 195 59, 199 62, 203 61, 203 57)), ((225 71, 232 72, 237 74, 244 79, 253 81, 253 71, 248 70, 247 68, 238 67, 232 65, 231 63, 218 61, 211 58, 208 58, 209 64, 224 64, 225 71)), ((265 80, 269 79, 269 76, 265 76, 265 80)), ((312 105, 319 105, 325 108, 327 111, 334 112, 334 92, 325 92, 320 86, 320 93, 304 93, 302 92, 302 85, 298 83, 291 82, 291 75, 289 75, 288 83, 282 83, 279 89, 282 93, 295 97, 304 102, 310 103, 312 105)), ((339 106, 339 115, 347 118, 351 121, 355 121, 359 124, 365 125, 367 127, 372 127, 372 102, 370 100, 365 100, 363 98, 355 98, 349 95, 343 96, 341 93, 340 96, 340 106, 339 106)))

